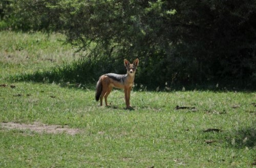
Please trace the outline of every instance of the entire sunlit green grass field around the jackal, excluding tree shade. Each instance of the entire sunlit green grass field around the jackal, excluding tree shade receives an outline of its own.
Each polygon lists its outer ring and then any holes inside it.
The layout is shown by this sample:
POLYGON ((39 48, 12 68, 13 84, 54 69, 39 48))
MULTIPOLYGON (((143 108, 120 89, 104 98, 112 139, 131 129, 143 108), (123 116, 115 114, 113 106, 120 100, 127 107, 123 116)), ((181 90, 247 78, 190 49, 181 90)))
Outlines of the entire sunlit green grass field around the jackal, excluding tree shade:
POLYGON ((119 90, 100 107, 90 83, 10 80, 77 60, 63 40, 0 32, 0 167, 255 166, 255 92, 136 89, 125 110, 119 90))

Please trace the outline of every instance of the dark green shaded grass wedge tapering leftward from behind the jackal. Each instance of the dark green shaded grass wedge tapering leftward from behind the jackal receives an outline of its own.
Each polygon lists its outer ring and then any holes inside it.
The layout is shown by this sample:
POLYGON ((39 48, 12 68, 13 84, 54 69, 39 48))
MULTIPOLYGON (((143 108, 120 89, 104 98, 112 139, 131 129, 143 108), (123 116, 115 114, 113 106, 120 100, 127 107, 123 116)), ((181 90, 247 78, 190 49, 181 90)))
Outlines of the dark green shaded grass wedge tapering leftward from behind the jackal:
MULTIPOLYGON (((32 81, 41 83, 59 83, 61 87, 81 88, 93 86, 95 89, 98 77, 104 72, 117 71, 110 60, 104 62, 96 59, 80 59, 70 64, 64 63, 48 70, 37 70, 34 73, 10 76, 11 81, 32 81)), ((120 69, 120 68, 119 68, 120 69)))

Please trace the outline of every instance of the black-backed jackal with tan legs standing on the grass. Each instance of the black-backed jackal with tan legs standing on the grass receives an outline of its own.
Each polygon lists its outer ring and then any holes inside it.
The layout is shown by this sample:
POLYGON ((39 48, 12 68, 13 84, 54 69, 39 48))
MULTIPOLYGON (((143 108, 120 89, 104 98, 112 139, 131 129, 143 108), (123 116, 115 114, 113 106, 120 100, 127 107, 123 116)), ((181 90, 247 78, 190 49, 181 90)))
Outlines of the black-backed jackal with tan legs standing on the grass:
POLYGON ((127 73, 125 75, 119 75, 115 73, 101 75, 96 85, 96 101, 100 99, 100 105, 102 105, 102 99, 104 97, 105 104, 106 106, 108 106, 108 102, 106 101, 106 99, 108 98, 113 87, 115 87, 119 89, 124 89, 126 108, 131 108, 130 94, 138 65, 139 59, 136 59, 133 64, 130 64, 129 61, 124 59, 124 66, 127 69, 127 73))

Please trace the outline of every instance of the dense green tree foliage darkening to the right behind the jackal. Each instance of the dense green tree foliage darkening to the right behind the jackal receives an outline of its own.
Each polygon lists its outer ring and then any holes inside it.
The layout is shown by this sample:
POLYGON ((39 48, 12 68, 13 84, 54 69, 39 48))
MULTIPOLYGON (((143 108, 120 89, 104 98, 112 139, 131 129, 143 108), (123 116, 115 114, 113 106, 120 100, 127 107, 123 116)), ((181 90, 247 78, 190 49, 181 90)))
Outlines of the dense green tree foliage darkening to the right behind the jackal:
POLYGON ((16 29, 66 34, 96 60, 139 58, 145 85, 170 83, 178 73, 176 85, 226 82, 253 88, 255 11, 253 0, 19 0, 11 16, 16 29))

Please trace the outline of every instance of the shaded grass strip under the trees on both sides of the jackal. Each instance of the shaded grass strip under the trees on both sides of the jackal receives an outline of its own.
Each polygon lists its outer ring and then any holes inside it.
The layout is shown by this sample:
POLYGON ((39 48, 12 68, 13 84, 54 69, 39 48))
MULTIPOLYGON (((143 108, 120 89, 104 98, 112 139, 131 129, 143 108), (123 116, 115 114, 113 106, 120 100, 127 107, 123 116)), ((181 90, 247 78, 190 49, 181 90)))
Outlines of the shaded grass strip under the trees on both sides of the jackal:
MULTIPOLYGON (((70 64, 64 63, 61 66, 56 66, 48 70, 37 70, 34 73, 29 74, 16 74, 10 76, 11 81, 33 81, 33 82, 42 82, 42 83, 60 83, 62 87, 71 87, 79 88, 79 85, 93 86, 95 89, 96 82, 102 74, 105 73, 117 73, 125 74, 126 70, 123 65, 123 59, 114 59, 114 58, 83 58, 77 61, 74 61, 70 64), (102 61, 103 60, 103 61, 102 61), (121 64, 120 64, 121 63, 121 64), (69 85, 66 85, 69 83, 69 85)), ((141 68, 141 67, 139 67, 141 68)), ((137 70, 134 87, 135 91, 166 91, 172 92, 175 90, 202 90, 202 91, 214 91, 214 92, 226 92, 226 91, 254 91, 254 88, 249 89, 239 89, 239 87, 233 87, 232 85, 219 85, 221 82, 206 82, 200 85, 192 85, 191 83, 182 83, 177 78, 169 86, 166 87, 165 82, 162 83, 152 83, 154 81, 154 76, 149 75, 146 77, 146 74, 140 73, 140 69, 137 70), (146 80, 151 79, 151 80, 146 80), (218 85, 216 85, 218 83, 218 85), (223 86, 223 87, 218 87, 223 86), (227 86, 227 87, 224 87, 227 86)), ((147 72, 147 75, 150 72, 147 72)), ((161 76, 161 74, 159 74, 161 76)), ((233 81, 232 81, 233 82, 233 81)), ((87 87, 88 88, 88 87, 87 87)), ((91 88, 91 87, 89 87, 91 88)))

